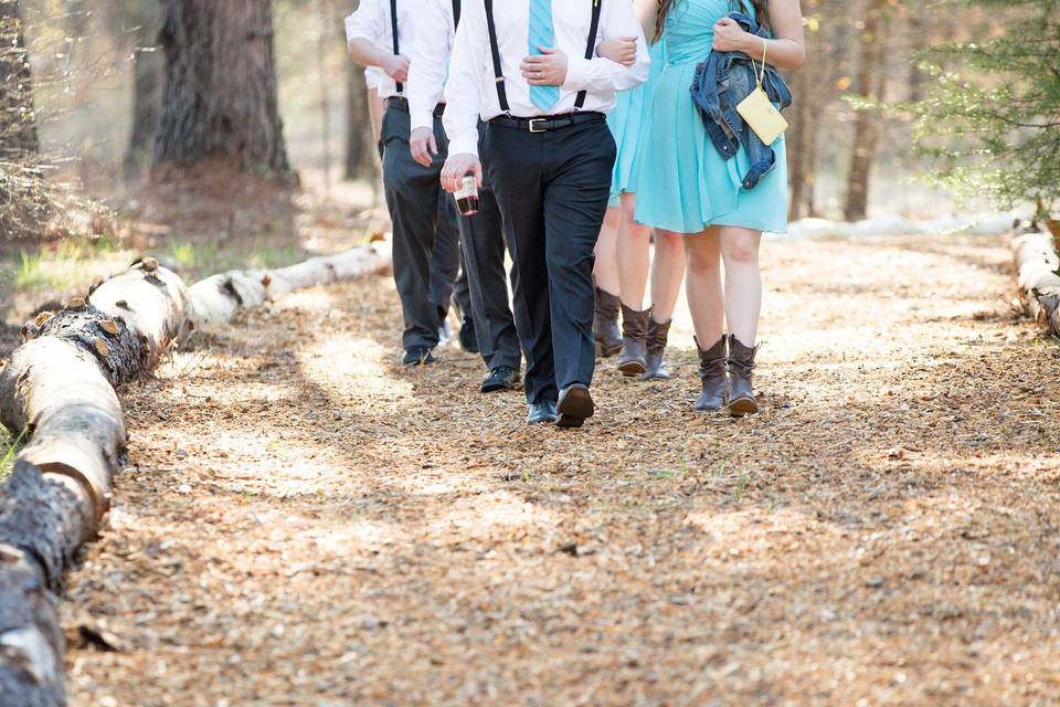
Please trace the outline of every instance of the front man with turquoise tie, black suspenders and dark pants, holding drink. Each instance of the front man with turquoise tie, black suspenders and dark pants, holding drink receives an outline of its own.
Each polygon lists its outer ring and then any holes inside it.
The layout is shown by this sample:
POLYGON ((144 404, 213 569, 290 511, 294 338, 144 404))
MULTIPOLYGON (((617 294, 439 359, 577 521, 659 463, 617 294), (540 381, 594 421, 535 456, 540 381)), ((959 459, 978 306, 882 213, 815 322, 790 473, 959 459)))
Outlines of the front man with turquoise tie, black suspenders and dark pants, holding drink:
POLYGON ((628 0, 465 0, 446 98, 445 189, 483 177, 513 247, 524 335, 527 422, 581 426, 594 413, 593 247, 615 143, 604 114, 644 83, 648 54, 628 0), (632 66, 596 56, 637 36, 632 66), (479 161, 478 120, 486 123, 479 161))

